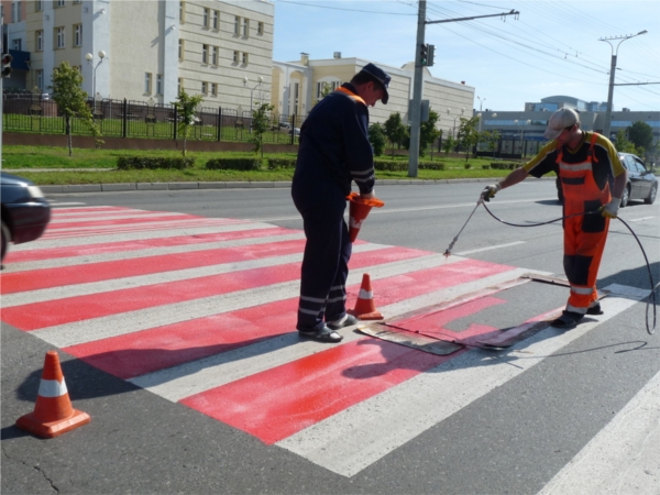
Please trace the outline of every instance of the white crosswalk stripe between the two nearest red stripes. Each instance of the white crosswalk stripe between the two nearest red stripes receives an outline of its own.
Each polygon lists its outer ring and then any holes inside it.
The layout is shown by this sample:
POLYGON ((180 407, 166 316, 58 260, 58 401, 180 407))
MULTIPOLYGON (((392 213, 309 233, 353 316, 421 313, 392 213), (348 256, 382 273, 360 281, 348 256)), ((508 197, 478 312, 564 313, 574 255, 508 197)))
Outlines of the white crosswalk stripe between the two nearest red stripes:
MULTIPOLYGON (((419 268, 419 266, 415 268, 419 268)), ((528 270, 522 268, 512 270, 510 272, 436 290, 405 301, 378 307, 378 310, 386 318, 393 318, 404 312, 426 308, 439 301, 452 300, 483 289, 484 287, 515 279, 528 272, 528 270)), ((382 275, 374 267, 370 267, 369 273, 372 279, 381 278, 382 275)), ((350 283, 360 283, 362 275, 360 273, 350 274, 349 279, 350 283)), ((352 327, 338 330, 344 337, 342 342, 345 343, 364 337, 353 330, 352 327)), ((298 343, 299 338, 296 330, 292 328, 290 331, 292 333, 268 339, 254 345, 180 364, 167 370, 161 370, 135 377, 130 380, 130 382, 147 388, 166 399, 176 402, 328 349, 326 344, 320 342, 305 340, 298 343), (293 345, 294 343, 295 345, 293 345)))

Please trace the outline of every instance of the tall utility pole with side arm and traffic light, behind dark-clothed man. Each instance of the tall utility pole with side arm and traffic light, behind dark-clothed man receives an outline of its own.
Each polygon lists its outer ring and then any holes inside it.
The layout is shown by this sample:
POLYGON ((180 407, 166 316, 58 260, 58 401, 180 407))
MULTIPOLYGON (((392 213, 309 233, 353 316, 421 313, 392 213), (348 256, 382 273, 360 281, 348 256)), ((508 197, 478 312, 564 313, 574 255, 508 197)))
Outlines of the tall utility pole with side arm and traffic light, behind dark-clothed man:
MULTIPOLYGON (((427 24, 440 24, 443 22, 460 22, 460 21, 472 21, 474 19, 482 18, 504 18, 506 15, 520 14, 517 10, 510 12, 503 12, 498 14, 490 15, 474 15, 471 18, 459 18, 459 19, 443 19, 441 21, 427 21, 426 20, 426 0, 419 0, 419 9, 417 13, 417 44, 415 45, 415 80, 413 82, 413 102, 410 105, 410 148, 408 150, 408 177, 417 177, 417 168, 419 165, 419 135, 421 127, 421 94, 422 94, 422 78, 424 67, 421 52, 424 51, 424 38, 427 24)), ((431 48, 432 50, 432 48, 431 48)), ((431 51, 429 51, 429 61, 431 58, 431 51)), ((427 61, 428 62, 428 61, 427 61)), ((429 64, 431 65, 431 64, 429 64)))

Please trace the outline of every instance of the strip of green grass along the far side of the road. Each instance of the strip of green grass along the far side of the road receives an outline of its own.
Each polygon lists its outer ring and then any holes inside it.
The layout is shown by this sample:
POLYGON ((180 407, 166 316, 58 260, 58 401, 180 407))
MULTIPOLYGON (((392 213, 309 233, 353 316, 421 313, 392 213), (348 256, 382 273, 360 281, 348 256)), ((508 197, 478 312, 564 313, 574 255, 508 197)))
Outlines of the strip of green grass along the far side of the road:
MULTIPOLYGON (((293 168, 279 168, 270 170, 206 170, 204 165, 211 158, 222 157, 254 157, 251 152, 195 152, 188 156, 195 157, 193 168, 184 170, 156 169, 156 170, 118 170, 117 160, 120 156, 180 156, 176 151, 140 151, 140 150, 81 150, 75 148, 73 156, 68 156, 66 147, 46 146, 3 146, 2 168, 7 172, 12 169, 53 169, 53 172, 20 172, 21 177, 28 178, 37 185, 73 185, 73 184, 117 184, 117 183, 174 183, 174 182, 277 182, 292 180, 293 168), (73 170, 73 168, 89 168, 89 170, 73 170), (110 168, 109 170, 95 170, 94 168, 110 168), (59 169, 59 170, 56 170, 59 169)), ((265 154, 268 157, 295 157, 292 153, 265 154)), ((378 160, 387 160, 381 156, 378 160)), ((406 156, 397 156, 394 160, 407 161, 406 156)), ((429 161, 430 156, 421 158, 429 161)), ((450 158, 444 155, 435 155, 433 162, 446 164, 444 170, 418 172, 418 179, 461 179, 461 178, 486 178, 504 177, 509 170, 483 169, 482 165, 492 162, 490 158, 471 158, 472 168, 464 167, 465 158, 450 158)), ((407 172, 376 170, 378 179, 408 179, 407 172)))

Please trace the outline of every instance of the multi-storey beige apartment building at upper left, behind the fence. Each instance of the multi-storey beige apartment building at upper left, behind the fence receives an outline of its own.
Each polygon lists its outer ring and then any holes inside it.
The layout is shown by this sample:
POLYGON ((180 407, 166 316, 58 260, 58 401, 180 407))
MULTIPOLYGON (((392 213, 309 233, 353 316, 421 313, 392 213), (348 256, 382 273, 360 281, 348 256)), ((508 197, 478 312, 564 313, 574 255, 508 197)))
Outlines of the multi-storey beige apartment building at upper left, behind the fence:
POLYGON ((78 67, 98 99, 169 103, 184 88, 205 105, 249 106, 271 86, 274 6, 263 0, 2 0, 7 47, 28 56, 7 87, 47 91, 78 67))

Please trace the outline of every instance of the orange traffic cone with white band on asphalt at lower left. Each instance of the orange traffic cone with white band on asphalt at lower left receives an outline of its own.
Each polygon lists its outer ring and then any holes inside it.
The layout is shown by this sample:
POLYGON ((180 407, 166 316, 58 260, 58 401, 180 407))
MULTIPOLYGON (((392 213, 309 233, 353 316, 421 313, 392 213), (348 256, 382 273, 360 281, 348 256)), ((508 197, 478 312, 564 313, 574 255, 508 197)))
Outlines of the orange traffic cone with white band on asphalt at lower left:
POLYGON ((87 413, 74 409, 55 351, 46 352, 34 413, 21 416, 16 426, 38 437, 53 438, 90 421, 87 413))

